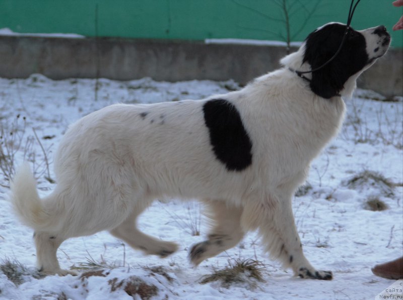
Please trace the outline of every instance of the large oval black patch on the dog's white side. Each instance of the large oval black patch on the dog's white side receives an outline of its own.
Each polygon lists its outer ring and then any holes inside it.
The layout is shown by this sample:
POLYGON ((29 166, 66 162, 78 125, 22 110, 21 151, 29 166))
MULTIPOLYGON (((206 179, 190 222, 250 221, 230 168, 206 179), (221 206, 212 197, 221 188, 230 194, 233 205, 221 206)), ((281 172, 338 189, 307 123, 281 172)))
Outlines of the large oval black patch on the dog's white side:
POLYGON ((214 154, 229 171, 242 171, 252 163, 252 142, 236 107, 225 99, 203 106, 214 154))

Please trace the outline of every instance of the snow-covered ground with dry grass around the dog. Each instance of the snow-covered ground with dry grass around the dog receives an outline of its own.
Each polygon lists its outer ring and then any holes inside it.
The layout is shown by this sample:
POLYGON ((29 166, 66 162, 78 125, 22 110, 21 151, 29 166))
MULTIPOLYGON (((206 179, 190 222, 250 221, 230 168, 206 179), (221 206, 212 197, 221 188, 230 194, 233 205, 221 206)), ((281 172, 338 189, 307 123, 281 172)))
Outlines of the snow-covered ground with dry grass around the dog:
MULTIPOLYGON (((35 266, 33 232, 20 224, 7 200, 9 182, 8 174, 4 173, 12 172, 10 157, 19 164, 25 152, 34 161, 36 175, 40 176, 40 194, 45 195, 54 187, 45 178, 54 177, 53 153, 66 127, 81 116, 116 102, 198 99, 236 88, 237 84, 231 81, 165 83, 147 78, 130 82, 52 81, 41 75, 24 80, 0 79, 1 142, 9 159, 5 165, 5 158, 0 157, 0 161, 3 159, 0 269, 2 260, 3 265, 7 260, 18 261, 28 268, 28 273, 33 273, 35 266)), ((80 267, 79 272, 83 273, 84 268, 98 264, 105 270, 102 274, 40 279, 25 275, 16 285, 0 271, 0 298, 131 299, 124 288, 127 290, 127 282, 141 278, 149 289, 152 285, 156 287, 149 290, 149 295, 155 294, 152 299, 373 299, 394 281, 374 276, 371 267, 401 256, 403 242, 403 102, 401 98, 397 102, 379 100, 382 100, 380 95, 359 90, 353 99, 346 101, 348 113, 344 128, 313 162, 308 188, 294 199, 305 254, 317 268, 332 270, 332 281, 293 277, 290 270, 283 270, 277 262, 268 260, 253 232, 238 246, 194 269, 187 260, 189 247, 202 241, 207 232, 200 206, 196 202, 156 201, 140 218, 139 227, 161 239, 178 242, 177 253, 166 259, 144 256, 108 232, 72 238, 57 253, 61 267, 80 267), (348 185, 349 179, 363 171, 377 172, 393 185, 388 187, 379 178, 368 181, 359 178, 355 185, 348 185), (381 200, 388 209, 368 210, 365 208, 368 199, 381 200), (192 234, 194 227, 200 230, 200 235, 192 234), (220 282, 200 283, 204 275, 223 269, 236 259, 252 259, 263 264, 264 282, 245 275, 245 282, 226 287, 220 282)), ((144 297, 147 298, 147 293, 144 297)))

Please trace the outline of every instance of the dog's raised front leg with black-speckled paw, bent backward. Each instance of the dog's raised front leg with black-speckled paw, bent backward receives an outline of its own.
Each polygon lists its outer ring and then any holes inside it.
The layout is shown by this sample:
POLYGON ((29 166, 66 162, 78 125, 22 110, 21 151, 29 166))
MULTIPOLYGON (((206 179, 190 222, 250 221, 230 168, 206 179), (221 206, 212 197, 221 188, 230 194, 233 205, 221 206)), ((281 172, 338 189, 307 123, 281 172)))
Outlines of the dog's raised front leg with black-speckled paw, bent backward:
POLYGON ((207 241, 193 245, 189 252, 190 261, 194 265, 236 246, 244 235, 240 225, 241 207, 229 206, 224 201, 206 203, 206 215, 211 218, 213 226, 207 241))

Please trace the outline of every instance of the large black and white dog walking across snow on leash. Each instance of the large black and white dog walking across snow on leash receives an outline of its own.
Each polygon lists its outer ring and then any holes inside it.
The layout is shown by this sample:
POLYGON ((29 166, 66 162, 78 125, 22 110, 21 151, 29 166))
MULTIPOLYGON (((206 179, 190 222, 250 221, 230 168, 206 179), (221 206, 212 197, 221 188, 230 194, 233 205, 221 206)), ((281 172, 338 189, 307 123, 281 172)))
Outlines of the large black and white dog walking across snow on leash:
POLYGON ((342 124, 356 79, 385 54, 385 27, 350 29, 326 24, 312 32, 284 68, 240 91, 198 101, 116 104, 73 124, 55 157, 57 186, 38 197, 23 165, 12 184, 21 220, 35 230, 38 267, 68 274, 56 251, 65 239, 109 230, 133 248, 165 257, 177 245, 146 235, 136 218, 156 198, 199 199, 214 226, 194 245, 197 265, 234 247, 258 229, 265 250, 295 275, 331 279, 305 258, 291 200, 312 159, 342 124))

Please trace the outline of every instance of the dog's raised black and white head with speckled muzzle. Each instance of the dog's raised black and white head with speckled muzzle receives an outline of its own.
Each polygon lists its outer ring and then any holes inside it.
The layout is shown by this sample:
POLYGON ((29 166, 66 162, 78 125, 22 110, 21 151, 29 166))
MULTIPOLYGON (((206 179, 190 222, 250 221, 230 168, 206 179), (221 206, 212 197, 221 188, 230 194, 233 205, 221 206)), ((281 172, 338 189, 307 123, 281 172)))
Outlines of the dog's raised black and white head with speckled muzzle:
MULTIPOLYGON (((337 52, 346 32, 346 25, 328 23, 308 35, 300 49, 281 60, 286 67, 298 71, 314 70, 337 52)), ((350 28, 339 54, 325 67, 306 75, 312 92, 330 98, 351 96, 358 76, 377 58, 386 53, 390 35, 384 26, 356 31, 350 28)))

